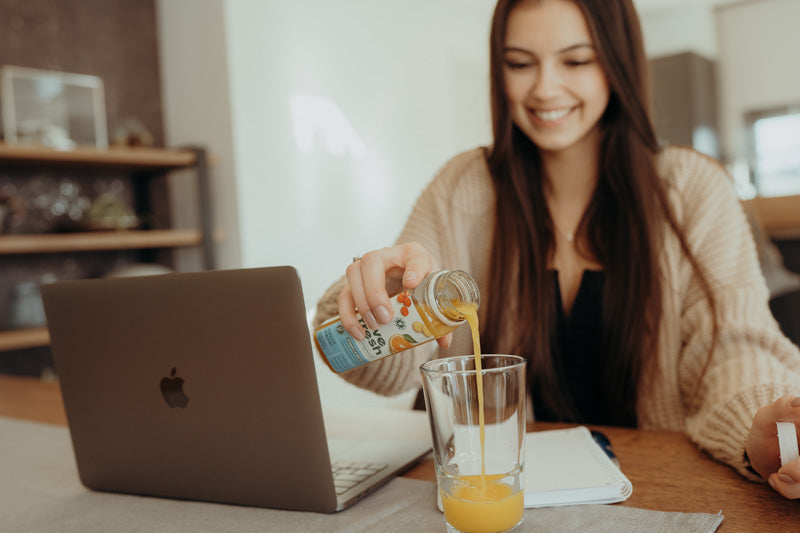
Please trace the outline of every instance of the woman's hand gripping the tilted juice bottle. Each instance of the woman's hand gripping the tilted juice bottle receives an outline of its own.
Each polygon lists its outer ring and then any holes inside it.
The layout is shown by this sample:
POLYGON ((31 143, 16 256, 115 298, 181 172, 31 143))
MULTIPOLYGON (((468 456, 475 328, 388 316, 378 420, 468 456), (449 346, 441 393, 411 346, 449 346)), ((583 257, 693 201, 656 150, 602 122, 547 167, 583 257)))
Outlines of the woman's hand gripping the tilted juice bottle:
MULTIPOLYGON (((399 244, 364 254, 347 267, 347 285, 339 293, 339 319, 354 338, 364 338, 359 312, 371 329, 392 320, 387 282, 414 289, 434 267, 433 256, 417 243, 399 244)), ((450 345, 451 335, 439 339, 450 345)))

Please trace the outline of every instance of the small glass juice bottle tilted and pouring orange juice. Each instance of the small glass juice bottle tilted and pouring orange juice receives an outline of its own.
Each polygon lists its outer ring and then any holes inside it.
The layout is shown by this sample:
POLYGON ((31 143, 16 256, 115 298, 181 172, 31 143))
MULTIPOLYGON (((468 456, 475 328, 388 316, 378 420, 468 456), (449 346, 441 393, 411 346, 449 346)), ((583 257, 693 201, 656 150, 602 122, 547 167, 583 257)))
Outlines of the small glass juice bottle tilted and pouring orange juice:
POLYGON ((475 280, 462 270, 431 272, 414 290, 391 295, 392 320, 377 329, 358 320, 365 338, 356 340, 338 317, 314 332, 314 342, 334 372, 347 372, 383 357, 443 337, 465 323, 464 305, 477 308, 480 293, 475 280))

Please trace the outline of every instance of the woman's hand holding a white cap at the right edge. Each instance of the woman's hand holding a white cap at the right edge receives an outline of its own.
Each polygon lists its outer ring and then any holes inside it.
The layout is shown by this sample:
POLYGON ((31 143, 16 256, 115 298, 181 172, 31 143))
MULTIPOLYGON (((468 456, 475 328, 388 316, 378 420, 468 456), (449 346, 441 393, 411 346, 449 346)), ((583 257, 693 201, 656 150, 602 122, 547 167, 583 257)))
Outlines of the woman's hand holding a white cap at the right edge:
POLYGON ((787 394, 756 411, 747 437, 750 465, 773 489, 787 498, 800 498, 800 459, 781 466, 777 422, 800 424, 800 397, 787 394))

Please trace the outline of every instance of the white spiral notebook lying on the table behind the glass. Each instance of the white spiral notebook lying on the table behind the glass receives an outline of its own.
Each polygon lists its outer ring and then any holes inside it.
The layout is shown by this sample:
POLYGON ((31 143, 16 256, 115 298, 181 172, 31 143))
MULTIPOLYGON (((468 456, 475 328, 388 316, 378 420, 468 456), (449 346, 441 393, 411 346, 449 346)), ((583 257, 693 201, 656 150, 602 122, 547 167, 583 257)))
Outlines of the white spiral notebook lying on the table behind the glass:
POLYGON ((633 486, 584 426, 525 435, 525 507, 627 500, 633 486))

